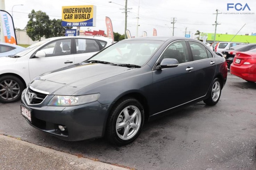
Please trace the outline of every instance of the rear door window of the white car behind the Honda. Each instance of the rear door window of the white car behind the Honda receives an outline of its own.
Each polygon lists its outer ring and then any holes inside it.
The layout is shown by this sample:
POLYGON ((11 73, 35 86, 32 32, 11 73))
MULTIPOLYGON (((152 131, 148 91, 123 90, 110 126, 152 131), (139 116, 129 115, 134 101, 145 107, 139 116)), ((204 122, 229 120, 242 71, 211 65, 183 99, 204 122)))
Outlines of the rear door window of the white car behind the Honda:
POLYGON ((81 38, 81 39, 75 39, 75 41, 76 41, 77 54, 91 53, 91 52, 96 52, 100 50, 100 47, 95 40, 81 38))

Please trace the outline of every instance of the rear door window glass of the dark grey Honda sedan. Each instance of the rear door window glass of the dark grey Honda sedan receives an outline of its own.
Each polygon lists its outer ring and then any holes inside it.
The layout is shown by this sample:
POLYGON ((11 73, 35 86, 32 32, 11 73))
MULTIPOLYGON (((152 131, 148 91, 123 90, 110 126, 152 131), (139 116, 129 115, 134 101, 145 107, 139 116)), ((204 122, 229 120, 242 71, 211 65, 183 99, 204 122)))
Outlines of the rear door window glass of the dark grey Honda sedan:
POLYGON ((195 41, 189 41, 194 60, 201 60, 208 58, 205 46, 195 41))

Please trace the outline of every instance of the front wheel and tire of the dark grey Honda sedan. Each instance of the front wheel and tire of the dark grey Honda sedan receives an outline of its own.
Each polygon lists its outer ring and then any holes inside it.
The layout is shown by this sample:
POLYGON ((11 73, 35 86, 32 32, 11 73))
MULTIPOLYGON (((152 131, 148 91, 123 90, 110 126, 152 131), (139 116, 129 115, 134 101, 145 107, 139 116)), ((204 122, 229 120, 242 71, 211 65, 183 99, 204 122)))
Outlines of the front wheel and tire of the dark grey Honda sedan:
POLYGON ((115 145, 129 144, 139 136, 143 123, 144 109, 140 102, 132 97, 123 98, 109 115, 106 137, 115 145))

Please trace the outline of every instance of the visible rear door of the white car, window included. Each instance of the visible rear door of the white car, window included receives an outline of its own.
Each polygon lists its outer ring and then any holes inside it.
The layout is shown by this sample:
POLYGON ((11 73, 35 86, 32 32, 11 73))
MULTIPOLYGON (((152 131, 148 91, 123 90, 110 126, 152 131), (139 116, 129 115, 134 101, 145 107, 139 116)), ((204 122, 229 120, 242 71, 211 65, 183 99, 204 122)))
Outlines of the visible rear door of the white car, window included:
POLYGON ((98 51, 100 51, 101 49, 102 47, 99 46, 99 44, 95 39, 75 38, 75 48, 74 48, 75 63, 80 63, 80 62, 83 62, 84 60, 87 60, 94 54, 98 53, 98 51))

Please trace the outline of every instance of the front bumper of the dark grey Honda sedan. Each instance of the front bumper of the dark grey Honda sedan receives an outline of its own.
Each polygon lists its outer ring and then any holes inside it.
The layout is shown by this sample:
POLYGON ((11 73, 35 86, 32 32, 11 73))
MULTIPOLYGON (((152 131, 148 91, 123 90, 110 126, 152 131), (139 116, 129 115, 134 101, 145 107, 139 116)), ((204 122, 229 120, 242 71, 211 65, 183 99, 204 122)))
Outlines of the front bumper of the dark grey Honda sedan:
POLYGON ((31 122, 36 129, 62 140, 80 141, 104 135, 105 124, 111 104, 101 105, 98 101, 79 106, 47 106, 52 96, 47 96, 42 104, 28 105, 24 92, 21 103, 30 108, 31 122), (66 126, 60 131, 58 125, 66 126))

